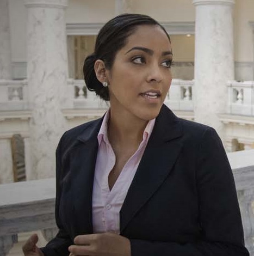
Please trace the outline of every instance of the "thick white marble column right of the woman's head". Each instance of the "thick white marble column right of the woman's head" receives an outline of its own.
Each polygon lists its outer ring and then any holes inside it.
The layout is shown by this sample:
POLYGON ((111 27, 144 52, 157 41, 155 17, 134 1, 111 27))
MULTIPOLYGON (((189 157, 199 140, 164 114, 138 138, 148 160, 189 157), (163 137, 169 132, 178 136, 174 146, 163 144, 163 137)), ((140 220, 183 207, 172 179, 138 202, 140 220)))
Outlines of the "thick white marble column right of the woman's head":
POLYGON ((234 78, 234 0, 193 0, 195 25, 195 121, 224 138, 218 114, 226 112, 227 81, 234 78))

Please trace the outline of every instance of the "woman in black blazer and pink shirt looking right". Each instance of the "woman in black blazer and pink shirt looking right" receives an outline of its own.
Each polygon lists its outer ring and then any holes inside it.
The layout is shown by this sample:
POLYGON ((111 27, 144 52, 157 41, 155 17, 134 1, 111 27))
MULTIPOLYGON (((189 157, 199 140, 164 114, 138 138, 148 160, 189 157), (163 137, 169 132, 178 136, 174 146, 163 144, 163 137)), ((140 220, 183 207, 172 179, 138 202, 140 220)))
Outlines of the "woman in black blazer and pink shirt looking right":
POLYGON ((171 63, 169 35, 151 17, 101 29, 84 76, 110 109, 60 139, 59 233, 41 249, 33 235, 25 255, 249 255, 218 135, 163 105, 171 63))

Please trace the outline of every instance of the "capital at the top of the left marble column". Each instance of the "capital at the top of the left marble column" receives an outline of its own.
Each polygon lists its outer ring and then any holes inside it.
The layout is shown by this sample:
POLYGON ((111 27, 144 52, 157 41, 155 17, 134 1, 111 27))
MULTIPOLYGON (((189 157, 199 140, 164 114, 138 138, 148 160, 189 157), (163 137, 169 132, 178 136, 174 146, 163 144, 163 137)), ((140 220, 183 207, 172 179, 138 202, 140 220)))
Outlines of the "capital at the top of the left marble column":
POLYGON ((68 0, 24 0, 24 5, 28 8, 46 7, 65 9, 68 5, 68 0))

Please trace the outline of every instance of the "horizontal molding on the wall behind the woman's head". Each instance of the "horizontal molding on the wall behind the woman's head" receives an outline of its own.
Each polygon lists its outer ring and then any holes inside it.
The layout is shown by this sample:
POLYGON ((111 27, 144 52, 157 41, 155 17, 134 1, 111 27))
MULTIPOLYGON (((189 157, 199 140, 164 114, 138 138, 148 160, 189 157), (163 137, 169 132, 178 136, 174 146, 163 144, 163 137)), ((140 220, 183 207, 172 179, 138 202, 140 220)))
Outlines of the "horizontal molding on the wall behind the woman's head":
MULTIPOLYGON (((195 34, 195 22, 162 22, 170 35, 195 34)), ((67 23, 67 35, 97 35, 104 23, 67 23)))

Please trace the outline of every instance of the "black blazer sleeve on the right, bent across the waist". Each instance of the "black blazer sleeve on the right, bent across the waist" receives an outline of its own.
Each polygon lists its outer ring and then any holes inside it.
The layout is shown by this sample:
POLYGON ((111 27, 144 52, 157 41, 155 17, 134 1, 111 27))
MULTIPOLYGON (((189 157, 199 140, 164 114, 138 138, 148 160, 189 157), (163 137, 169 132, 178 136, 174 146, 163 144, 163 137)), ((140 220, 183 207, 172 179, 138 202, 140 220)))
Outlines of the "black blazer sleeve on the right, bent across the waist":
POLYGON ((216 131, 201 136, 196 161, 201 239, 177 243, 131 239, 132 256, 247 256, 236 187, 216 131))

